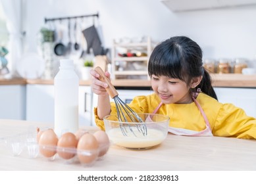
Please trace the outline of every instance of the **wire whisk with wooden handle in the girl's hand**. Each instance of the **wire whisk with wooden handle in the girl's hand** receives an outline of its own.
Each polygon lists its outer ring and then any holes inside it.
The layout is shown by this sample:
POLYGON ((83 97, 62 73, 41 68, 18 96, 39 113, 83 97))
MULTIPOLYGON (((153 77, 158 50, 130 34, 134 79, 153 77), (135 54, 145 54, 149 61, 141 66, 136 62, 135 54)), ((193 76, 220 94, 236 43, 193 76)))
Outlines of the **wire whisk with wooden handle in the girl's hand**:
MULTIPOLYGON (((127 122, 127 124, 120 124, 122 134, 127 136, 127 133, 130 130, 135 136, 137 136, 136 133, 134 133, 133 127, 128 122, 143 123, 143 120, 140 118, 140 116, 138 116, 138 114, 136 114, 136 112, 134 112, 134 110, 132 110, 132 108, 130 108, 130 106, 128 106, 118 97, 118 93, 114 85, 111 83, 109 78, 105 76, 105 72, 103 72, 99 66, 95 67, 95 71, 99 74, 99 80, 108 84, 106 90, 109 93, 109 96, 115 101, 118 121, 127 122)), ((136 129, 138 129, 138 132, 142 135, 147 135, 147 127, 145 124, 136 124, 136 129)))

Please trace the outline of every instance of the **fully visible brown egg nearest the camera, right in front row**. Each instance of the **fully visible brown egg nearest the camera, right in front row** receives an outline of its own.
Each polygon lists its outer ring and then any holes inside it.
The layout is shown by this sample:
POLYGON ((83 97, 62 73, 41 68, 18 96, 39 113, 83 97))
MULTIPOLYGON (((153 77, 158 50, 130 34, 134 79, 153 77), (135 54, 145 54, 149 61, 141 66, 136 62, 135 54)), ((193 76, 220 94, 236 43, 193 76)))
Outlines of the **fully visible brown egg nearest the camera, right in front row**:
POLYGON ((92 164, 98 156, 99 143, 90 133, 84 134, 78 141, 77 155, 81 164, 92 164))

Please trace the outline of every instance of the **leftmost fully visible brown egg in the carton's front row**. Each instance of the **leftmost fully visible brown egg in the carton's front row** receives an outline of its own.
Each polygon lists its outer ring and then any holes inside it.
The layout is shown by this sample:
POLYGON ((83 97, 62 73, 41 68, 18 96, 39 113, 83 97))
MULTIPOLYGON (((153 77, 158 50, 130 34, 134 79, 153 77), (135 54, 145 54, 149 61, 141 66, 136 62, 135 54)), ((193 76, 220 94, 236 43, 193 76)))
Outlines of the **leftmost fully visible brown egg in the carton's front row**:
POLYGON ((57 152, 58 137, 53 129, 47 129, 41 133, 39 139, 39 152, 49 158, 57 152))

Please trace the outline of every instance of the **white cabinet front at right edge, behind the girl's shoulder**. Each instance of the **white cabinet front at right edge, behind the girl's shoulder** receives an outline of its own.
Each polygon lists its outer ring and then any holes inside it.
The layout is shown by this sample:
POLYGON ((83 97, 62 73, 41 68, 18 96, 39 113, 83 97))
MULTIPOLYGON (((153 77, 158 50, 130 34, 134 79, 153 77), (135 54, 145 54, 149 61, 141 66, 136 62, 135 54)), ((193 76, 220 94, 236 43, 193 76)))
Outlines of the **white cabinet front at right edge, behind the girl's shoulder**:
POLYGON ((232 103, 243 108, 248 116, 256 118, 256 89, 237 87, 215 87, 220 103, 232 103))

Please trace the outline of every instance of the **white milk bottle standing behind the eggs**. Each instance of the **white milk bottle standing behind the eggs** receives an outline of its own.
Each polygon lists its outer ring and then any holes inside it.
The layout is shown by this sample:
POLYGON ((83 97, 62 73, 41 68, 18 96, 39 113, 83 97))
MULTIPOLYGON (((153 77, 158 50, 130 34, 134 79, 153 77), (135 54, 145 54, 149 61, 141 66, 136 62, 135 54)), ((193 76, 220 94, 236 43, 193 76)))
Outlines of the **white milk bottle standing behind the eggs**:
POLYGON ((61 59, 59 72, 54 78, 55 88, 55 124, 54 131, 61 134, 78 130, 78 89, 79 78, 74 72, 70 59, 61 59))

